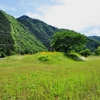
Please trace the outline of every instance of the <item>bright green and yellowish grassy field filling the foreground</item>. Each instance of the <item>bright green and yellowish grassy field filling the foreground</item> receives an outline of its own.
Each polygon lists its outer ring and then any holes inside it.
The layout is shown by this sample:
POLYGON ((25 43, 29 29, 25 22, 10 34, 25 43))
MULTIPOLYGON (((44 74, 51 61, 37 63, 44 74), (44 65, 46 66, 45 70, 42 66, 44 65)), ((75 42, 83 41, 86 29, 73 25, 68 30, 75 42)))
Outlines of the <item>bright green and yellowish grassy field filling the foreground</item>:
POLYGON ((0 59, 0 100, 100 100, 100 57, 58 52, 0 59))

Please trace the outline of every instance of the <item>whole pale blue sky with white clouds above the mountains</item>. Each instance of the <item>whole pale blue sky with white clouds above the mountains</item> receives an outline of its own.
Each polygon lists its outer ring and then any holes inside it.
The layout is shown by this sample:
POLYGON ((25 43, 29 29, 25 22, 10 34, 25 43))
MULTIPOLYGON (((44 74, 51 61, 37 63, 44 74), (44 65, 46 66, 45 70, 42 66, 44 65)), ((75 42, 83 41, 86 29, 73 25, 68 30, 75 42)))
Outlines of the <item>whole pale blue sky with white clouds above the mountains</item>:
POLYGON ((100 0, 0 0, 0 10, 27 15, 57 28, 100 36, 100 0))

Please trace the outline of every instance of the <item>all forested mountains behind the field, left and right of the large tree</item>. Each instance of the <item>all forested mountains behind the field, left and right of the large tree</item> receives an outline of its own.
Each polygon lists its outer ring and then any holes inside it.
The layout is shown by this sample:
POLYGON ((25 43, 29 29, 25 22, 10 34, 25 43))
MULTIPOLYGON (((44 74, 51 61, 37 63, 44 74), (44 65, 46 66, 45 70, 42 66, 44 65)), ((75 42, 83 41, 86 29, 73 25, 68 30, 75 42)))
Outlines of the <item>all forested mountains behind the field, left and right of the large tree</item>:
MULTIPOLYGON (((0 57, 52 50, 52 36, 62 30, 68 29, 59 29, 26 15, 16 19, 0 10, 0 57)), ((69 32, 72 31, 69 30, 69 32)), ((85 49, 94 52, 100 46, 100 37, 91 36, 87 39, 85 49)))

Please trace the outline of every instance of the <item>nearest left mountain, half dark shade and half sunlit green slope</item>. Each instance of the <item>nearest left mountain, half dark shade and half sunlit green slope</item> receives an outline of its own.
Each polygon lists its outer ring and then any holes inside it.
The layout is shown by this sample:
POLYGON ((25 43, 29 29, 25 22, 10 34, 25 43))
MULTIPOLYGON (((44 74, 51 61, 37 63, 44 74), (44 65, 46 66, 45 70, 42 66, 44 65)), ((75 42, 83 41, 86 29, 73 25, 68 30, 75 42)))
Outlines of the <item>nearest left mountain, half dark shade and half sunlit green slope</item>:
POLYGON ((36 53, 46 47, 14 17, 0 11, 0 54, 36 53))

